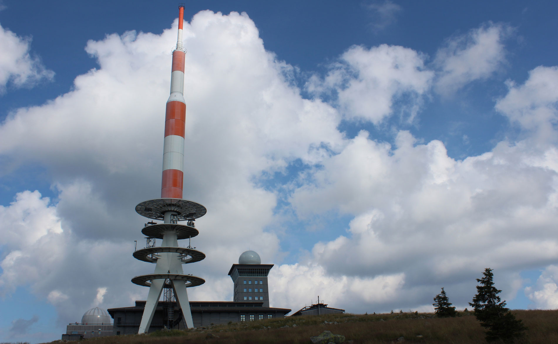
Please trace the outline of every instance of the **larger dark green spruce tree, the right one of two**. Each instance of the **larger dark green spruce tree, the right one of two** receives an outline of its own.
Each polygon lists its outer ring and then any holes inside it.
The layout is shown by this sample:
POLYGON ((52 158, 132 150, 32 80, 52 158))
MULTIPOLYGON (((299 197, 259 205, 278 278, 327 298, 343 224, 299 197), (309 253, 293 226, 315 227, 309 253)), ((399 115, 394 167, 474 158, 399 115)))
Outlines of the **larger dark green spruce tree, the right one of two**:
POLYGON ((523 331, 527 327, 521 320, 506 308, 506 301, 501 301, 498 296, 502 290, 494 287, 492 269, 484 269, 483 278, 477 278, 477 295, 470 306, 475 309, 475 317, 480 322, 480 326, 487 328, 487 342, 503 341, 513 343, 517 338, 524 336, 523 331))

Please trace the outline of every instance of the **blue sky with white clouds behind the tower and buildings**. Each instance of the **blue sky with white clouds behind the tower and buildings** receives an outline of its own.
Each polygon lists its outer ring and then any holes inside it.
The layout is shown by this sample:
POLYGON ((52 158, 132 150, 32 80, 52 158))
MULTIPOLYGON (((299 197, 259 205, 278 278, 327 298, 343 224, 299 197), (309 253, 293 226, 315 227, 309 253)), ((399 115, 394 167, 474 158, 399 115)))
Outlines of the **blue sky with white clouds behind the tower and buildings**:
MULTIPOLYGON (((41 342, 147 295, 133 210, 158 196, 177 5, 1 4, 0 307, 31 311, 0 338, 41 342)), ((186 3, 191 298, 232 299, 253 249, 272 307, 464 308, 485 267, 509 307, 558 307, 556 7, 186 3)))

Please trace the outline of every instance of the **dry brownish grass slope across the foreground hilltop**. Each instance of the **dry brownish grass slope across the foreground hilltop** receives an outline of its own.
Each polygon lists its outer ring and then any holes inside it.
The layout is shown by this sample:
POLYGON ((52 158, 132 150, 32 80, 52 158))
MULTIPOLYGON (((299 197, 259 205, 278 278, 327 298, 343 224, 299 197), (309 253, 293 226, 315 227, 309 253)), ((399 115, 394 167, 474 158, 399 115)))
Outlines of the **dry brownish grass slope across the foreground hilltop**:
MULTIPOLYGON (((529 327, 521 343, 558 344, 558 311, 513 311, 529 327)), ((142 336, 112 336, 87 340, 89 344, 170 343, 310 343, 310 337, 329 330, 360 343, 391 343, 404 337, 410 343, 484 343, 484 329, 472 313, 457 318, 435 318, 431 313, 329 314, 234 323, 189 331, 154 332, 142 336), (383 319, 384 321, 381 321, 383 319), (337 324, 324 324, 337 322, 337 324), (296 324, 296 327, 292 325, 296 324), (288 328, 283 326, 288 325, 288 328), (268 328, 271 327, 271 328, 268 328), (210 338, 210 334, 219 336, 210 338), (417 337, 422 336, 422 337, 417 337)))

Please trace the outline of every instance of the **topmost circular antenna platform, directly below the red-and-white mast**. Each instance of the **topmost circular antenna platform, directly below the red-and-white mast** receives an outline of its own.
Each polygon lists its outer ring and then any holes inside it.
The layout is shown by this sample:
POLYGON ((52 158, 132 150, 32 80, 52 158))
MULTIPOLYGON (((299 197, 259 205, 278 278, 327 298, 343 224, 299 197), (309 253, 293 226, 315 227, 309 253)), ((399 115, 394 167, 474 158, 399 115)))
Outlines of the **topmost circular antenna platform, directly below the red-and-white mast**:
POLYGON ((179 221, 187 221, 204 216, 207 209, 199 203, 182 198, 155 198, 136 206, 138 214, 153 220, 162 220, 167 211, 176 211, 179 221))

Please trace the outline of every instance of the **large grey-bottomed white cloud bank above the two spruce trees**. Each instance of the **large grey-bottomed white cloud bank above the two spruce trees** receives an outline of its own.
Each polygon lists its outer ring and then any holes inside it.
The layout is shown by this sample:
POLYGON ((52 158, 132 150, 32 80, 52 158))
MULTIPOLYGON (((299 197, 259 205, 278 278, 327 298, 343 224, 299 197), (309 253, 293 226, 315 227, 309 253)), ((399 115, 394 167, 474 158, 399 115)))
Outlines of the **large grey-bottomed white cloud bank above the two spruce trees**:
POLYGON ((424 306, 440 287, 465 305, 487 267, 513 298, 522 285, 515 269, 558 259, 552 235, 558 156, 536 139, 502 141, 456 160, 437 140, 419 143, 401 131, 392 147, 360 132, 301 174, 310 182, 291 195, 302 219, 353 217, 345 233, 314 245, 311 263, 338 278, 403 274, 401 293, 391 301, 412 295, 410 308, 424 306))

